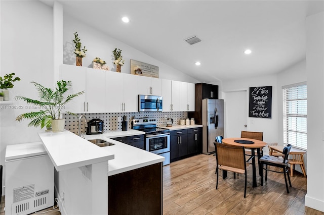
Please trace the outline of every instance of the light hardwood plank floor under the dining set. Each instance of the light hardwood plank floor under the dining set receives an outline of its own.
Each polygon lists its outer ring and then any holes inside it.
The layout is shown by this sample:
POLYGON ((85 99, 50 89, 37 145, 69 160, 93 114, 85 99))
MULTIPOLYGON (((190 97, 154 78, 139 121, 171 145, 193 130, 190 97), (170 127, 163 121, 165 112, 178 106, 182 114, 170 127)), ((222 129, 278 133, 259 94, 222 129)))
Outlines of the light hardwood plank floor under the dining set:
MULTIPOLYGON (((289 194, 284 175, 272 172, 263 186, 258 177, 258 187, 253 188, 252 166, 248 167, 246 198, 244 175, 234 179, 228 173, 223 180, 220 173, 216 190, 215 159, 213 155, 199 154, 163 168, 163 214, 324 214, 304 206, 307 178, 297 172, 291 178, 293 187, 289 194)), ((3 197, 0 215, 5 214, 4 200, 3 197)))

